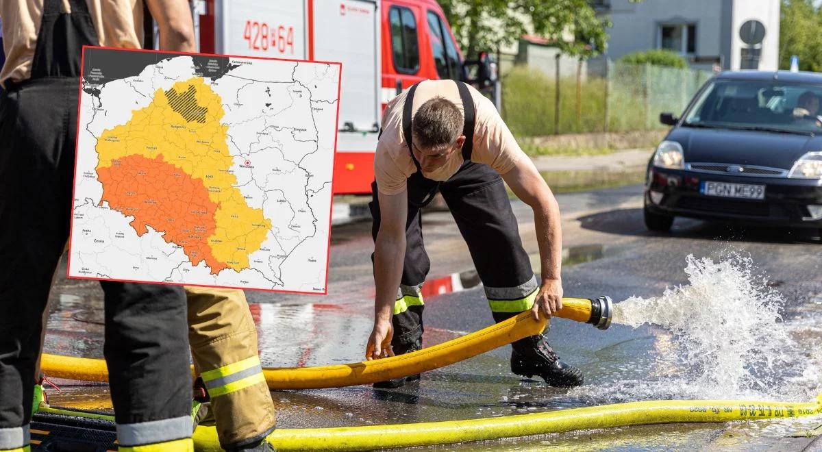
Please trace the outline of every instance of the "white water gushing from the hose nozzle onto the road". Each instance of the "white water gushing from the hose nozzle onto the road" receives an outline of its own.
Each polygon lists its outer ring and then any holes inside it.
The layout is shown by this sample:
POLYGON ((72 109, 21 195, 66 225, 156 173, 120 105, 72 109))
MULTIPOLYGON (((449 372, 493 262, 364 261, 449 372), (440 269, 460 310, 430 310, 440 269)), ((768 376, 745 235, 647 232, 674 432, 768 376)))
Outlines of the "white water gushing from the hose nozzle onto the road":
POLYGON ((614 323, 670 332, 672 348, 657 367, 677 369, 652 381, 617 382, 621 390, 718 399, 796 394, 786 377, 797 353, 779 314, 783 297, 756 274, 750 257, 690 255, 686 262, 688 284, 614 307, 614 323))

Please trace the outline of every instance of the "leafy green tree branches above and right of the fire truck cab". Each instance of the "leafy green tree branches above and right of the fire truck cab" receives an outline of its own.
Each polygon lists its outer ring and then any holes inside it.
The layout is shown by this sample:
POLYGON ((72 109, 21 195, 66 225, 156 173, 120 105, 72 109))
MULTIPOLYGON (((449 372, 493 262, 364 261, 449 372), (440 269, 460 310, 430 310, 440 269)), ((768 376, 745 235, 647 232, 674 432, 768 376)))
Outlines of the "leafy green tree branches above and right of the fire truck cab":
POLYGON ((589 0, 440 0, 467 58, 534 34, 551 39, 564 53, 583 58, 603 52, 610 23, 589 0), (527 26, 525 22, 530 22, 527 26), (571 42, 563 39, 574 34, 571 42))

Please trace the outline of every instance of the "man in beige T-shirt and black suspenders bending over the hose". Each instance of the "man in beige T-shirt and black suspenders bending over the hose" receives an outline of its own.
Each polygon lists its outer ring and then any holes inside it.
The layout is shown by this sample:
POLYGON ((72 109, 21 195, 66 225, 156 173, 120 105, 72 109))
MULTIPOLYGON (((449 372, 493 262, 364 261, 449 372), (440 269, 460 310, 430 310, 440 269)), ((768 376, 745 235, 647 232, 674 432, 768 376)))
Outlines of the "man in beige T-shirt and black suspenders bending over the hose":
MULTIPOLYGON (((430 268, 420 209, 439 191, 467 242, 496 322, 522 311, 534 320, 562 307, 559 207, 492 102, 459 81, 422 81, 391 100, 382 118, 372 183, 375 318, 366 358, 423 346, 421 288, 430 268), (533 209, 542 265, 533 274, 506 192, 533 209)), ((548 385, 581 385, 545 334, 512 345, 511 371, 548 385)), ((376 383, 398 387, 409 376, 376 383)))

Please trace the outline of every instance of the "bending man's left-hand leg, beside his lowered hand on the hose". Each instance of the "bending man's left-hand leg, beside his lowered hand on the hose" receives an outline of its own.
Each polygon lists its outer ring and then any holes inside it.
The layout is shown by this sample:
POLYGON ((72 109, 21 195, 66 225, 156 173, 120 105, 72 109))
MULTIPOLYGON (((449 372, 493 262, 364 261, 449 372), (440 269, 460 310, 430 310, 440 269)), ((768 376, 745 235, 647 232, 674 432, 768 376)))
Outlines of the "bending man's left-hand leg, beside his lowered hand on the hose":
MULTIPOLYGON (((409 188, 412 183, 409 180, 409 188)), ((410 198, 410 195, 409 195, 410 198)), ((380 204, 376 195, 376 182, 372 183, 372 202, 369 203, 372 214, 372 237, 380 230, 380 204)), ((397 289, 397 299, 394 305, 394 338, 391 339, 391 348, 395 354, 403 354, 423 348, 423 288, 425 277, 431 268, 431 261, 423 245, 423 217, 420 209, 409 204, 408 219, 405 224, 405 256, 403 261, 403 277, 397 289)), ((373 261, 373 255, 372 255, 373 261)), ((376 383, 376 387, 398 387, 406 380, 417 380, 416 376, 408 379, 396 379, 376 383)))

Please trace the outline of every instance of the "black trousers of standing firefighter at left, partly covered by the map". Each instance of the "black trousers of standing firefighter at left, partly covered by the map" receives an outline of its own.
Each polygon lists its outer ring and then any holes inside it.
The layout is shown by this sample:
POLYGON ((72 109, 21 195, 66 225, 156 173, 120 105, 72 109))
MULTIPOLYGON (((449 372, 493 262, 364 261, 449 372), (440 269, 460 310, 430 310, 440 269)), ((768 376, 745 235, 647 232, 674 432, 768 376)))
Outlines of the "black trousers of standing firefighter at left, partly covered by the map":
MULTIPOLYGON (((0 450, 29 446, 43 313, 72 211, 77 85, 76 77, 38 76, 0 95, 0 450)), ((182 288, 100 285, 121 450, 190 450, 182 288)))

